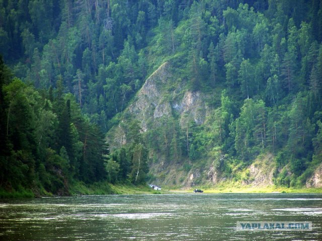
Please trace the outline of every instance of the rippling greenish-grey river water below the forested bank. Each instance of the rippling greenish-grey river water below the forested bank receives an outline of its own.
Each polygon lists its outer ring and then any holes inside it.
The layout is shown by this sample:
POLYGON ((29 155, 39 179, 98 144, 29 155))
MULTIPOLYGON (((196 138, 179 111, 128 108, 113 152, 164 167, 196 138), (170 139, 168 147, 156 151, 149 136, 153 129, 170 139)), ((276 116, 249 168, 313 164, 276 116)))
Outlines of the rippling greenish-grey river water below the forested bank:
POLYGON ((322 240, 322 194, 151 194, 0 200, 0 240, 322 240), (237 221, 312 222, 245 231, 237 221))

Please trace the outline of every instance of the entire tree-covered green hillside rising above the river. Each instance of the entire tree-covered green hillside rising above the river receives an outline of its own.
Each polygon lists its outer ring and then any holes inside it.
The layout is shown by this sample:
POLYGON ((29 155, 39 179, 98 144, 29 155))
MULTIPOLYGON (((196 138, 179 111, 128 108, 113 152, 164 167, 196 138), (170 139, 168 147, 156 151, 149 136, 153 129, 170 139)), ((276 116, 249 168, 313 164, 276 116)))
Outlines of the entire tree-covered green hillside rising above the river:
POLYGON ((0 13, 3 189, 177 168, 168 184, 248 183, 264 156, 275 185, 303 186, 322 162, 322 1, 7 0, 0 13), (158 75, 166 107, 140 104, 158 75), (194 98, 198 113, 181 109, 194 98), (122 144, 110 155, 107 132, 122 144))

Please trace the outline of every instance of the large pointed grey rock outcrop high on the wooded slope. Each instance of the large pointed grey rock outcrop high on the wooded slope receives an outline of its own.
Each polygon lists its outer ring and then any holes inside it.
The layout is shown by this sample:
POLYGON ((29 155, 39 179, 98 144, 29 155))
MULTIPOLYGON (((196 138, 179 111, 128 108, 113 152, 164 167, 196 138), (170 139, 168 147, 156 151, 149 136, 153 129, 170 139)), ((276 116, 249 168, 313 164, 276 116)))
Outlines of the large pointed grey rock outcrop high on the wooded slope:
MULTIPOLYGON (((153 129, 158 123, 158 118, 167 118, 173 113, 180 116, 182 127, 186 127, 190 121, 201 125, 208 111, 205 104, 206 96, 198 91, 184 92, 184 83, 184 81, 175 81, 170 63, 162 64, 146 79, 134 101, 124 110, 124 114, 138 119, 143 132, 153 129), (169 90, 169 86, 172 90, 169 90)), ((126 143, 122 125, 113 127, 109 131, 107 141, 111 149, 126 143)))

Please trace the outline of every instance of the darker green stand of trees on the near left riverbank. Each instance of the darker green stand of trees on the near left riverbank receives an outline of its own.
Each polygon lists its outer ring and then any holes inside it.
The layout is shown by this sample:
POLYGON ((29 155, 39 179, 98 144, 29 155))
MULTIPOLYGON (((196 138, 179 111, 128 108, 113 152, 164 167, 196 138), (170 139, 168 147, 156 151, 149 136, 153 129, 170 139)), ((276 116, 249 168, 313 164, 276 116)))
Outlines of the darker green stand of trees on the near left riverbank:
POLYGON ((0 70, 0 127, 5 141, 0 187, 8 192, 32 189, 63 195, 74 179, 89 183, 105 179, 104 138, 82 115, 73 96, 63 95, 59 82, 54 96, 46 92, 41 96, 32 86, 12 79, 4 65, 0 70))

